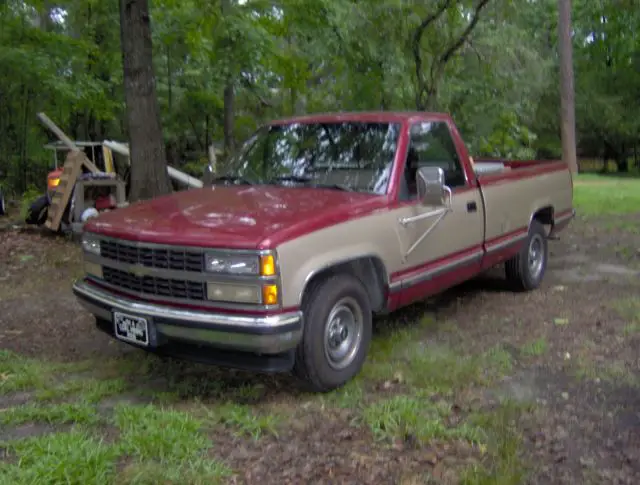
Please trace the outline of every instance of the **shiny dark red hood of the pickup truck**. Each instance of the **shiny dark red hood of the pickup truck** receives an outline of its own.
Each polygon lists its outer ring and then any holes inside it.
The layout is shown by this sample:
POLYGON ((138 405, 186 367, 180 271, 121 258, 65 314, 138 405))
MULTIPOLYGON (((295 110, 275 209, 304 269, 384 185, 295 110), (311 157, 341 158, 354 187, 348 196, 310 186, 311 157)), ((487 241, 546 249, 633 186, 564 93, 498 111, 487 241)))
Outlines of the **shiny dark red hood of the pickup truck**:
POLYGON ((385 196, 332 189, 214 186, 103 213, 85 230, 149 243, 265 249, 385 205, 385 196))

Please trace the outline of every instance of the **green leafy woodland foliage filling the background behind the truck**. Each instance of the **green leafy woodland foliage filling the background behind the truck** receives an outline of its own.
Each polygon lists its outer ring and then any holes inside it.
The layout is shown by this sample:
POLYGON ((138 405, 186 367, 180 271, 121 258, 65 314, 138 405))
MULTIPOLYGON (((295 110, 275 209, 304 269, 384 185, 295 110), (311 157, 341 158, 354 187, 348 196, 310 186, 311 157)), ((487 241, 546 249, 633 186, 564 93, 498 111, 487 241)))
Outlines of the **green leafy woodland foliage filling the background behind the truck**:
MULTIPOLYGON (((574 2, 579 151, 634 159, 640 121, 640 10, 631 0, 574 2), (626 2, 626 3, 625 3, 626 2), (628 8, 624 8, 626 5, 628 8)), ((223 138, 292 114, 415 109, 412 39, 437 2, 158 0, 154 67, 170 163, 200 176, 223 138)), ((421 74, 454 46, 477 2, 457 0, 423 33, 421 74)), ((9 192, 44 186, 49 114, 77 139, 127 140, 118 2, 7 0, 0 5, 0 171, 9 192)), ((476 156, 558 157, 557 2, 492 0, 434 81, 476 156)), ((619 163, 624 169, 624 163, 619 163)))

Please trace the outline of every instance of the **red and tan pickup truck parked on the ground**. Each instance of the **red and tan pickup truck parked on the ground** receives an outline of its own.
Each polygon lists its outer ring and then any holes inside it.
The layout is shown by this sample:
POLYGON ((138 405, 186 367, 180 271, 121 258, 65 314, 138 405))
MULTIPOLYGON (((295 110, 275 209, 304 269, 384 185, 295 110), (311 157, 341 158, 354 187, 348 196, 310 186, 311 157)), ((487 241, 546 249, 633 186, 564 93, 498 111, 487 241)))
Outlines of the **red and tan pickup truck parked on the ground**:
POLYGON ((124 342, 328 391, 376 315, 503 263, 537 288, 572 195, 562 162, 473 162, 446 114, 274 121, 211 186, 88 222, 73 289, 124 342))

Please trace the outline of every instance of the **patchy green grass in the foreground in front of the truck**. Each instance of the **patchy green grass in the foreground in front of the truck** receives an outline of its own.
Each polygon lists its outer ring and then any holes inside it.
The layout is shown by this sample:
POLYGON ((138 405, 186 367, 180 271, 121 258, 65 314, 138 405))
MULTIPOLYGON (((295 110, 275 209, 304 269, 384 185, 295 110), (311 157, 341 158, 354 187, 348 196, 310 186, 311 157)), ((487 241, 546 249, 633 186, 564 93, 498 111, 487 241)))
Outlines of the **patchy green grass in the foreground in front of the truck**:
MULTIPOLYGON (((425 342, 423 337, 434 325, 429 318, 416 325, 393 323, 374 339, 370 359, 357 379, 333 393, 314 395, 310 402, 321 403, 329 413, 349 409, 350 425, 368 430, 378 446, 394 440, 425 446, 434 440, 466 443, 475 450, 477 463, 465 477, 502 473, 508 467, 495 447, 499 439, 507 438, 497 437, 495 426, 487 424, 489 417, 481 422, 479 414, 468 409, 462 413, 454 402, 468 388, 489 385, 510 372, 511 357, 501 347, 467 354, 425 342), (388 381, 393 381, 389 392, 374 390, 388 381), (493 461, 485 464, 488 456, 493 461)), ((234 470, 215 459, 217 437, 225 433, 251 441, 277 437, 289 419, 317 411, 294 401, 293 407, 285 404, 279 412, 277 401, 260 404, 264 381, 242 376, 215 379, 210 367, 160 362, 137 353, 101 362, 98 368, 95 362, 50 365, 3 351, 0 369, 5 396, 27 391, 31 397, 26 405, 0 411, 0 423, 49 426, 40 430, 45 434, 5 445, 0 485, 220 483, 234 470), (139 382, 117 377, 131 369, 137 370, 139 382), (157 378, 165 385, 155 391, 146 383, 157 378), (155 403, 123 401, 123 393, 132 392, 156 395, 155 403), (111 404, 105 408, 101 404, 107 398, 111 404), (62 432, 60 426, 70 430, 62 432), (51 429, 53 433, 46 433, 51 429), (72 442, 77 446, 68 451, 72 442), (87 466, 80 467, 84 462, 87 466)))

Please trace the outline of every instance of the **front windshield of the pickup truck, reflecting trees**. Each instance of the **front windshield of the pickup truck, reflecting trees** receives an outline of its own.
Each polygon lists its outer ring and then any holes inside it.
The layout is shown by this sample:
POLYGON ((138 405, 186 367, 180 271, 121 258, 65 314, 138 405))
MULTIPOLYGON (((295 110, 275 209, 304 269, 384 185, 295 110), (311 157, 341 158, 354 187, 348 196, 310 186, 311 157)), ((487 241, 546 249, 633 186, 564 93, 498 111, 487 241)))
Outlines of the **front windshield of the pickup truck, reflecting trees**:
POLYGON ((229 160, 226 177, 385 194, 399 133, 398 123, 265 126, 229 160))

